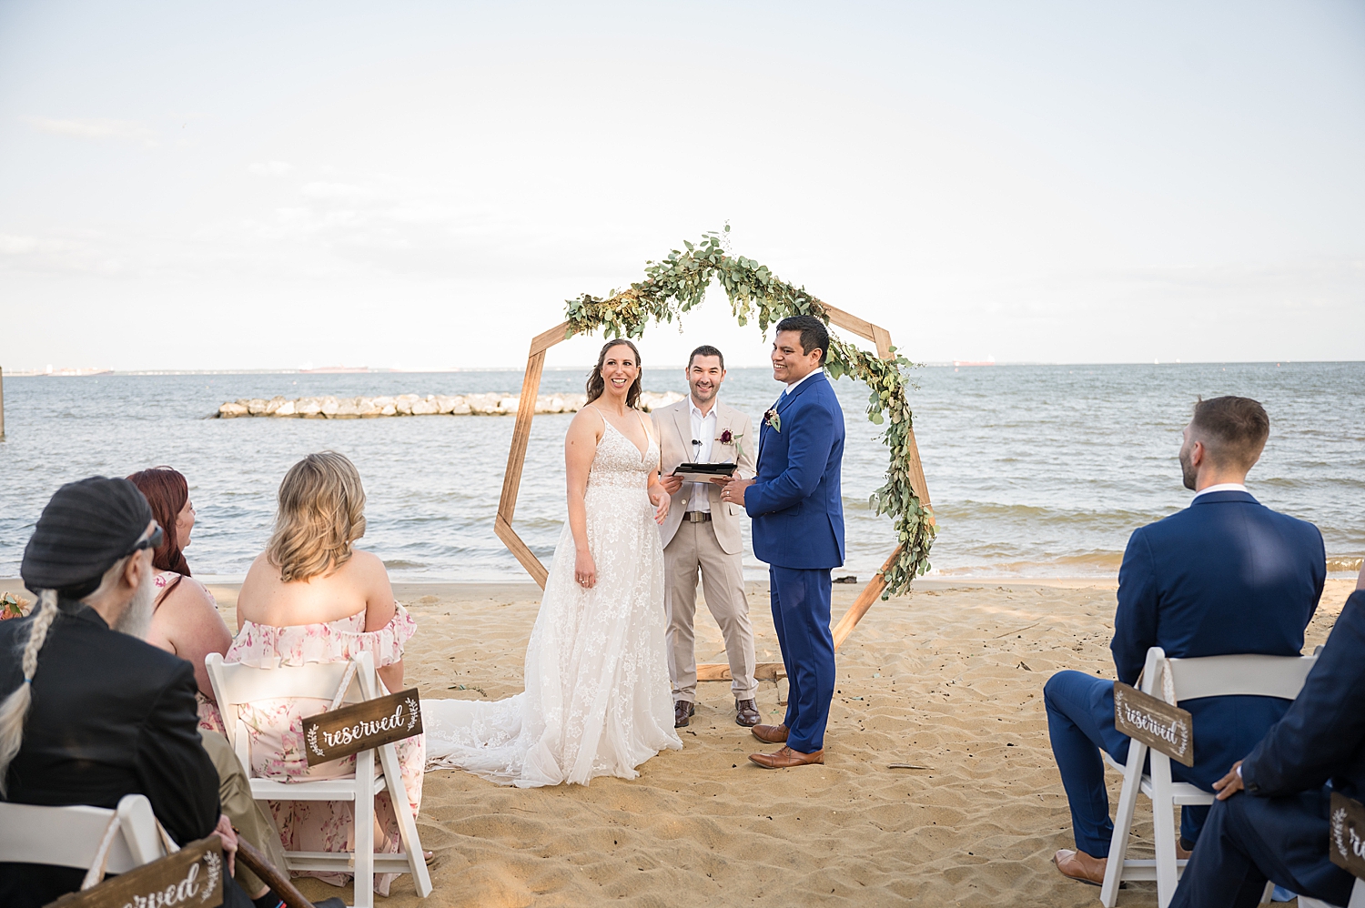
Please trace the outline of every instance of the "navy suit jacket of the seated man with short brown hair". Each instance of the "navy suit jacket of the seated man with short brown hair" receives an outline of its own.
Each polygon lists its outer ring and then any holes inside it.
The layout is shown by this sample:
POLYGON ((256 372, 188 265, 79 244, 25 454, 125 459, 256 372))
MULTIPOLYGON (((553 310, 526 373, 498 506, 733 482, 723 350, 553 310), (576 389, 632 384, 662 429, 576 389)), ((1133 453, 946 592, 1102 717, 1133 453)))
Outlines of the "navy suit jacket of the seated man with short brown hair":
MULTIPOLYGON (((1323 534, 1245 492, 1211 492, 1127 541, 1118 573, 1114 668, 1136 684, 1147 650, 1170 657, 1299 655, 1327 579, 1323 534)), ((1212 791, 1289 709, 1269 696, 1181 703, 1194 721, 1189 781, 1212 791)))

